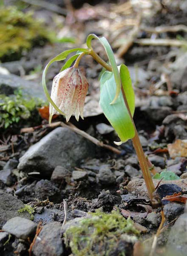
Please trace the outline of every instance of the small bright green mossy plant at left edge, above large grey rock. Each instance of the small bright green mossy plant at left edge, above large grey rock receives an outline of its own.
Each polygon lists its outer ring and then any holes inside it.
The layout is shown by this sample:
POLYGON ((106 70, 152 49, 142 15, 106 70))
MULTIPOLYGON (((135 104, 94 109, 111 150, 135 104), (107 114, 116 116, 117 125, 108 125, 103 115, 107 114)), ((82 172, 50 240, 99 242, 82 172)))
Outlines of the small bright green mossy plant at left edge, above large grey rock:
POLYGON ((19 123, 21 119, 28 119, 36 107, 44 104, 40 99, 25 98, 21 90, 16 90, 14 95, 0 94, 0 124, 1 127, 19 123))

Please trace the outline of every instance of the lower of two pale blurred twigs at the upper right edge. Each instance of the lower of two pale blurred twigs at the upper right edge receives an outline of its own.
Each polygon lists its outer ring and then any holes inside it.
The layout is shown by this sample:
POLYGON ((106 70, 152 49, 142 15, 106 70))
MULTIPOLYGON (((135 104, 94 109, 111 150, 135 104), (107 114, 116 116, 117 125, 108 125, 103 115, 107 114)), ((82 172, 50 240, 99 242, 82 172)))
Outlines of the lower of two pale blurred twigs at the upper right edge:
POLYGON ((187 41, 176 40, 176 39, 145 38, 145 39, 137 39, 134 42, 140 45, 176 46, 176 47, 187 46, 187 41))

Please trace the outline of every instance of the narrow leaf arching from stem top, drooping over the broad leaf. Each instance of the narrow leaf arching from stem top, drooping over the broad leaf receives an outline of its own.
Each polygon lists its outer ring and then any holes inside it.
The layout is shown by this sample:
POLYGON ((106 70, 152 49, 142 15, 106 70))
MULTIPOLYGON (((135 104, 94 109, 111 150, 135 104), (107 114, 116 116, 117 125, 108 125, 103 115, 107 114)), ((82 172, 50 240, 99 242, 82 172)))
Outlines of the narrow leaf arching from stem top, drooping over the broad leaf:
POLYGON ((112 99, 110 104, 114 104, 117 100, 117 97, 119 96, 120 91, 121 91, 121 79, 120 79, 119 71, 117 68, 116 60, 114 57, 114 53, 112 51, 112 48, 111 48, 109 42, 106 40, 105 37, 98 38, 94 34, 91 34, 87 37, 86 44, 87 44, 88 48, 92 49, 92 45, 91 45, 92 39, 98 39, 100 41, 100 43, 103 45, 103 47, 105 48, 107 57, 109 59, 109 62, 112 66, 112 71, 114 73, 114 77, 115 77, 115 81, 116 81, 116 93, 114 95, 114 99, 112 99))

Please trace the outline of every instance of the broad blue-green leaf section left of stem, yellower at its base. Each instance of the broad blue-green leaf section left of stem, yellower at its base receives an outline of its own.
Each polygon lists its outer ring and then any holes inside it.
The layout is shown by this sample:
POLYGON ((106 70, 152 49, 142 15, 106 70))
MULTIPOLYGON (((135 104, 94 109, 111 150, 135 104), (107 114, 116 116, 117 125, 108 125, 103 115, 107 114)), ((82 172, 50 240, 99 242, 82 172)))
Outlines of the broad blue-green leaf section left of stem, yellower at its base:
POLYGON ((135 136, 135 129, 129 116, 128 109, 124 103, 122 92, 120 91, 119 97, 115 104, 111 105, 111 99, 114 98, 116 93, 115 77, 113 72, 105 71, 101 77, 101 90, 100 90, 100 105, 103 112, 116 130, 122 142, 128 141, 135 136))

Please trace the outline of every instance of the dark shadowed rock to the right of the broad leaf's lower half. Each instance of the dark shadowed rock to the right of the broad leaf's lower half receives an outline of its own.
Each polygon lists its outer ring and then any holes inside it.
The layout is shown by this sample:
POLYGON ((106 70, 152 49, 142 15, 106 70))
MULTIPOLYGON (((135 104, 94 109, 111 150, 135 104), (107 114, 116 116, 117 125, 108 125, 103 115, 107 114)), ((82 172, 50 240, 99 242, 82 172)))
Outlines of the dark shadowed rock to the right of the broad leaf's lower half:
POLYGON ((170 107, 142 106, 140 110, 153 122, 162 122, 167 115, 171 115, 172 113, 172 109, 170 107))

